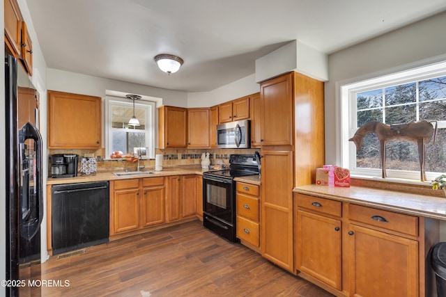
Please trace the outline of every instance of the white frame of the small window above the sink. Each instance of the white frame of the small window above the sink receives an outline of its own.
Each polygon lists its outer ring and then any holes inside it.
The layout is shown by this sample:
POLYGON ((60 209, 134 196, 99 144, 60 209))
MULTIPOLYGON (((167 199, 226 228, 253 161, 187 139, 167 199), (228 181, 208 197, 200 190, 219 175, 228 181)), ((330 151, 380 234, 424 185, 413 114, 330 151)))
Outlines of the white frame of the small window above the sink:
MULTIPOLYGON (((133 102, 129 99, 124 99, 120 97, 105 97, 105 159, 110 159, 109 156, 112 154, 112 129, 120 130, 119 128, 112 128, 112 109, 111 106, 130 106, 133 108, 133 102)), ((145 109, 146 110, 146 127, 144 130, 138 130, 139 132, 146 133, 146 145, 148 147, 148 154, 146 156, 142 156, 142 159, 155 159, 155 134, 156 125, 155 125, 155 110, 156 104, 155 102, 139 100, 134 103, 135 108, 145 109)), ((127 152, 124 152, 127 153, 127 152)))

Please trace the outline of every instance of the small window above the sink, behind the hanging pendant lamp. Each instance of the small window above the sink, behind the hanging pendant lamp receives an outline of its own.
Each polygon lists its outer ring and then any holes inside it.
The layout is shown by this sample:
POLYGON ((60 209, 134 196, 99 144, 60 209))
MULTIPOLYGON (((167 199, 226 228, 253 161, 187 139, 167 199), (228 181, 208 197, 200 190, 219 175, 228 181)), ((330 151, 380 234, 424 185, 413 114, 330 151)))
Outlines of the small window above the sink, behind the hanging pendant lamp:
POLYGON ((130 99, 107 96, 105 101, 105 156, 146 151, 142 158, 155 158, 155 102, 139 99, 134 102, 134 115, 139 126, 128 125, 133 116, 130 99))

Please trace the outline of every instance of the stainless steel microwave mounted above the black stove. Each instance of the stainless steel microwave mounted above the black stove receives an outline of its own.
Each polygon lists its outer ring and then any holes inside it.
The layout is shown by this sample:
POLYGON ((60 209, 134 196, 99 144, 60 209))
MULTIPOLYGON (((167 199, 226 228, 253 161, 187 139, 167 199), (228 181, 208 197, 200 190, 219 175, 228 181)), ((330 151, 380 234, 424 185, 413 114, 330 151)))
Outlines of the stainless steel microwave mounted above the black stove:
POLYGON ((251 147, 251 121, 238 120, 217 125, 217 147, 251 147))

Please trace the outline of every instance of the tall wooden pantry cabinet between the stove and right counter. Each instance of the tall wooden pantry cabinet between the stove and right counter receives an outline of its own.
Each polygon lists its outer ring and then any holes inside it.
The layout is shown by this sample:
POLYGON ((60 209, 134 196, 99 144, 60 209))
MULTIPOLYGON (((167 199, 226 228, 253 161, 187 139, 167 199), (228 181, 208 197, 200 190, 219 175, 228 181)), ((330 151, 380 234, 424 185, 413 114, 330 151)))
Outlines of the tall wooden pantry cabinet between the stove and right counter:
POLYGON ((323 82, 289 72, 260 87, 262 255, 295 273, 293 187, 324 162, 323 82))

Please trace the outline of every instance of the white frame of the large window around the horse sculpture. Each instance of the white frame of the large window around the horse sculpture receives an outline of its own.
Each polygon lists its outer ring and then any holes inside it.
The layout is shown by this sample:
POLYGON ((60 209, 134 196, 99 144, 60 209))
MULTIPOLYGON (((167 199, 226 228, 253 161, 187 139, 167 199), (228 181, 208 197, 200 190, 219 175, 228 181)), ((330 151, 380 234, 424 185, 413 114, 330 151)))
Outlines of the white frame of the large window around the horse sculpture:
MULTIPOLYGON (((433 77, 446 76, 446 62, 434 63, 431 65, 416 67, 411 70, 386 74, 372 79, 364 79, 354 83, 347 83, 340 86, 340 135, 341 143, 337 145, 340 150, 341 166, 349 168, 351 175, 364 177, 381 177, 380 168, 356 168, 356 147, 348 141, 355 134, 358 127, 355 95, 367 90, 386 88, 389 86, 401 85, 413 81, 422 81, 433 77)), ((446 128, 446 121, 438 121, 438 128, 446 128)), ((394 179, 414 179, 420 180, 420 171, 391 170, 386 168, 387 178, 394 179)), ((426 172, 428 180, 438 176, 438 172, 426 172)))

